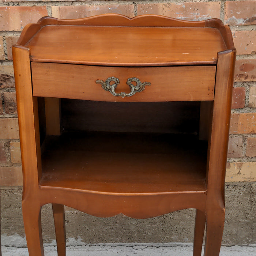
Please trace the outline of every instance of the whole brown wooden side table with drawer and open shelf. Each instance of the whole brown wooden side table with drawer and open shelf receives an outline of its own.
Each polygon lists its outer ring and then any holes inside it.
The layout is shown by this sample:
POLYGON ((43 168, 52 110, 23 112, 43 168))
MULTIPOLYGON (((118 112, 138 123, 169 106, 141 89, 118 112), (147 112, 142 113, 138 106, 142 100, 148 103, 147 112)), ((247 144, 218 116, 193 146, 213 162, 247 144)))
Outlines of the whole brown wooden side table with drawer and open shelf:
MULTIPOLYGON (((236 57, 229 27, 218 19, 157 15, 44 17, 25 27, 12 51, 31 256, 44 255, 41 207, 47 203, 58 255, 65 255, 64 205, 133 218, 196 208, 194 255, 201 255, 206 220, 204 255, 219 255, 236 57), (111 111, 123 114, 112 121, 123 118, 125 129, 104 130, 103 115, 95 131, 63 131, 65 98, 119 102, 111 111), (130 104, 180 101, 201 102, 199 136, 148 132, 147 125, 134 132, 125 122, 136 116, 130 104)), ((154 122, 148 118, 157 127, 154 122)))

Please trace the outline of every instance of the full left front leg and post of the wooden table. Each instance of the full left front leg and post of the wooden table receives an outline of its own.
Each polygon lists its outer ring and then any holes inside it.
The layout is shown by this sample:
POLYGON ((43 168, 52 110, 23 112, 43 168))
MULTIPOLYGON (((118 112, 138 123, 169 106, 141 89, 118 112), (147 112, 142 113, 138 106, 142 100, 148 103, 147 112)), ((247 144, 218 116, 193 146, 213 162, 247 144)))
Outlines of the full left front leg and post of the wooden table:
POLYGON ((22 212, 30 255, 44 255, 38 180, 41 179, 41 152, 37 98, 32 95, 29 49, 12 48, 19 118, 23 170, 22 212))

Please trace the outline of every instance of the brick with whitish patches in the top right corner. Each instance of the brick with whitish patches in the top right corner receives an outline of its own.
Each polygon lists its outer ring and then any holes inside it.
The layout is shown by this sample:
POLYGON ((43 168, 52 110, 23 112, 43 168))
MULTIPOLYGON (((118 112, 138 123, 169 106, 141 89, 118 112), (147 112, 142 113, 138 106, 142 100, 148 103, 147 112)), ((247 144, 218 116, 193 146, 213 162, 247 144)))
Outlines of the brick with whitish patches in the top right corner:
POLYGON ((225 23, 230 26, 256 24, 255 1, 225 2, 225 23))

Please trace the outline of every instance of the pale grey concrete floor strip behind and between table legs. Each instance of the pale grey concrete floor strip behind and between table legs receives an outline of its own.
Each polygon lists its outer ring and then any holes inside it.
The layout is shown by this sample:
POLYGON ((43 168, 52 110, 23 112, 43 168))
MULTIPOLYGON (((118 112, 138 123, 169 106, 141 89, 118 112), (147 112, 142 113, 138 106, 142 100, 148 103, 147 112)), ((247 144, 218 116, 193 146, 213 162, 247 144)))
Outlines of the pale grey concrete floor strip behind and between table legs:
MULTIPOLYGON (((56 246, 46 246, 45 256, 57 256, 56 246)), ((28 256, 27 248, 2 246, 3 256, 28 256)), ((174 244, 98 244, 67 246, 67 256, 189 256, 193 255, 191 245, 175 246, 174 244)), ((220 256, 255 256, 256 245, 222 246, 220 256)))

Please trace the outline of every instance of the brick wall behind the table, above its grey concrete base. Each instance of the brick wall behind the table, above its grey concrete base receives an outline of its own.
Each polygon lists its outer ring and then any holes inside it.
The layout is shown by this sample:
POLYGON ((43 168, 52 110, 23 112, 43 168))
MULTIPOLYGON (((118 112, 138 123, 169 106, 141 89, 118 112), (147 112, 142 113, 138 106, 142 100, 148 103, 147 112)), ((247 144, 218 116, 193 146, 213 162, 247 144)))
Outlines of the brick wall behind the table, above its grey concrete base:
POLYGON ((0 2, 0 180, 22 185, 11 45, 42 16, 83 18, 103 13, 159 14, 185 20, 220 18, 237 48, 226 181, 256 181, 256 1, 3 0, 0 2))

